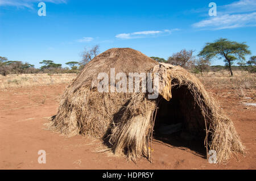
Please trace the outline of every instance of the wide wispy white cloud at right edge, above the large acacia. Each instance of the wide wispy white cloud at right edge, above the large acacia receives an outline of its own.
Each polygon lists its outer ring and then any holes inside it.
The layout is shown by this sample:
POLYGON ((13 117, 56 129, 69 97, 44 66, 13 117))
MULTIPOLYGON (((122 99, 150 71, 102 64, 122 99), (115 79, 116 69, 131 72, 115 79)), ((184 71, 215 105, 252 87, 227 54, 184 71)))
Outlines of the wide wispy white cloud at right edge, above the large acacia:
POLYGON ((213 30, 222 30, 228 28, 248 27, 256 25, 256 12, 249 14, 233 14, 213 16, 212 18, 202 20, 192 26, 196 28, 210 28, 213 30))

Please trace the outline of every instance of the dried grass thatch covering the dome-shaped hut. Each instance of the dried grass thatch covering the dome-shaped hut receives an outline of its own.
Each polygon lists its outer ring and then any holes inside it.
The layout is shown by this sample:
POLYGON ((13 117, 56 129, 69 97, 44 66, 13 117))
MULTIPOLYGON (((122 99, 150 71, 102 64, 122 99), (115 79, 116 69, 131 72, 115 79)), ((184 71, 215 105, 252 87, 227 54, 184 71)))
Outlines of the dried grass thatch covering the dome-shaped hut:
POLYGON ((182 100, 184 114, 188 112, 184 129, 203 132, 205 140, 202 144, 207 149, 216 150, 218 162, 226 161, 233 151, 244 153, 232 121, 196 77, 179 66, 158 64, 130 48, 109 49, 85 66, 64 92, 51 128, 68 136, 85 134, 107 140, 115 154, 125 153, 133 160, 141 156, 150 158, 148 143, 160 99, 172 101, 172 89, 181 87, 191 96, 191 99, 184 96, 182 100), (95 88, 97 75, 101 72, 110 74, 110 68, 115 68, 115 73, 159 73, 159 98, 148 99, 147 93, 143 92, 98 92, 95 88))

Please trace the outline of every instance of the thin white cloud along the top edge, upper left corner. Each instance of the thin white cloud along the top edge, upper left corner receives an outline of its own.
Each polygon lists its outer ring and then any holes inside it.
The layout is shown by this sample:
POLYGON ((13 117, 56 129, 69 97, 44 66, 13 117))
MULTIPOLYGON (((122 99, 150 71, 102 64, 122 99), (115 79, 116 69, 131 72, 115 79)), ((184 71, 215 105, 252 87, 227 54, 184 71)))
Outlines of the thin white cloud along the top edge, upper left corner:
POLYGON ((0 0, 0 6, 16 6, 33 9, 34 3, 39 2, 51 2, 55 4, 67 3, 66 0, 0 0))

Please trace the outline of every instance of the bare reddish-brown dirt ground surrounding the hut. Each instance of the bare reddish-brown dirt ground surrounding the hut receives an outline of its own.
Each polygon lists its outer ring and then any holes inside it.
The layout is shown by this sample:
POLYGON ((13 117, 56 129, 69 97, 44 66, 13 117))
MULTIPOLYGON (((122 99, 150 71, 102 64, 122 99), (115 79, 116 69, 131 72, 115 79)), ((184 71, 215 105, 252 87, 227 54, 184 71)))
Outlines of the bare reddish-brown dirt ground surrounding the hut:
MULTIPOLYGON (((96 153, 100 140, 65 137, 45 129, 55 115, 67 85, 51 85, 0 91, 0 169, 256 169, 256 108, 242 104, 232 89, 208 89, 233 120, 246 157, 238 155, 226 164, 210 164, 191 150, 152 144, 153 163, 141 158, 137 164, 125 157, 96 153), (38 151, 46 151, 46 164, 38 163, 38 151)), ((249 92, 251 98, 255 95, 249 92)))

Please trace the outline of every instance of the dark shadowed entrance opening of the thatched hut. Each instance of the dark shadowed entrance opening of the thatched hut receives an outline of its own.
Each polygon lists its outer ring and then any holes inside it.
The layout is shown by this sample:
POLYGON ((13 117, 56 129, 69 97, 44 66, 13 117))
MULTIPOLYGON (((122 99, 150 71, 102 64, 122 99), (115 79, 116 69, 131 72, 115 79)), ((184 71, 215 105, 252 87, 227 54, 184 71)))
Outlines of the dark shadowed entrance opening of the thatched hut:
POLYGON ((205 155, 205 122, 187 86, 172 87, 172 99, 160 98, 154 138, 205 155))

